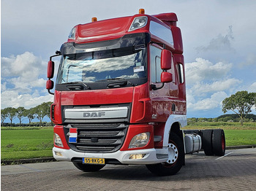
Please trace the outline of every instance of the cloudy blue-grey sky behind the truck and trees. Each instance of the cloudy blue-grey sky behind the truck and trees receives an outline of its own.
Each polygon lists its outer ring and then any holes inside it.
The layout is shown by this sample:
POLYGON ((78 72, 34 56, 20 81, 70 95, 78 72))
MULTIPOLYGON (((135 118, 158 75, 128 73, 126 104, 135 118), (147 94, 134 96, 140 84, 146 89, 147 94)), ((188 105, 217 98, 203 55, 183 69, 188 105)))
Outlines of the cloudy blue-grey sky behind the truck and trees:
POLYGON ((73 26, 91 17, 135 15, 140 8, 148 15, 178 16, 187 117, 218 117, 224 98, 256 92, 256 1, 1 0, 1 109, 53 101, 45 90, 47 63, 73 26))

